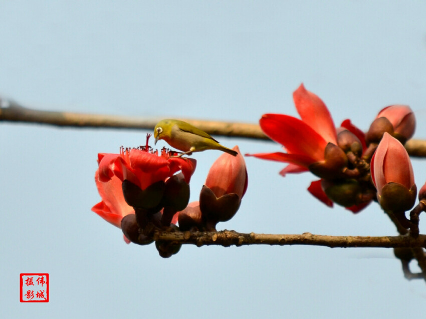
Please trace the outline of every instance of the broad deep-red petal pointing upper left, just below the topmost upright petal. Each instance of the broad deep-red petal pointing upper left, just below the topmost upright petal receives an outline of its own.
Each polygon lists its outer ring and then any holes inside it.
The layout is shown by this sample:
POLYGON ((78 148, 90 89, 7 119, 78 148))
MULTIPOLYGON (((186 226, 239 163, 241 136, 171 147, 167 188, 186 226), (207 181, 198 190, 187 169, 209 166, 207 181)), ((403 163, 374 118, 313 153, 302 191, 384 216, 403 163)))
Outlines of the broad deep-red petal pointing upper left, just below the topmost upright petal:
POLYGON ((324 159, 327 142, 309 125, 284 114, 264 114, 259 121, 264 133, 284 145, 289 153, 301 154, 313 159, 324 159))

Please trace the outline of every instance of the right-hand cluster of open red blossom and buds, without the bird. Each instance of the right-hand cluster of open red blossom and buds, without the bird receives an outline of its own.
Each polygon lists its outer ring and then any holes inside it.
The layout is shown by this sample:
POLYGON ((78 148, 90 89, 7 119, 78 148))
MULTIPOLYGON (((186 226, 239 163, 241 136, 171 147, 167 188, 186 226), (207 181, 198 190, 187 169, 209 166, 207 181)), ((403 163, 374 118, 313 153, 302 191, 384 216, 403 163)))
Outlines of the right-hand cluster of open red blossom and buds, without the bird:
POLYGON ((293 99, 301 119, 265 114, 260 120, 264 133, 286 152, 249 156, 289 163, 280 172, 283 176, 311 171, 321 179, 308 190, 328 206, 334 202, 355 213, 375 198, 386 211, 413 206, 414 177, 403 147, 415 130, 408 106, 382 109, 364 134, 350 120, 336 128, 324 102, 303 84, 293 99))

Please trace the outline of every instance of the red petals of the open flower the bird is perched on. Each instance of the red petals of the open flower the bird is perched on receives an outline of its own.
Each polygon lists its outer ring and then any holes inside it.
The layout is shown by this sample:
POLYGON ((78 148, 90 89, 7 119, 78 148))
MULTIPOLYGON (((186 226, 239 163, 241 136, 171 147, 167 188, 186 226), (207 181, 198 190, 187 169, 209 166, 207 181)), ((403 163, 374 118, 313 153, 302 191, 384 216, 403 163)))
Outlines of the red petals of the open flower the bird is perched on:
POLYGON ((196 166, 193 159, 172 157, 163 151, 148 152, 145 149, 121 149, 120 154, 98 154, 99 168, 95 182, 102 201, 92 211, 111 224, 120 227, 121 219, 134 213, 124 200, 122 182, 128 180, 142 190, 158 181, 166 181, 179 170, 187 183, 196 166))

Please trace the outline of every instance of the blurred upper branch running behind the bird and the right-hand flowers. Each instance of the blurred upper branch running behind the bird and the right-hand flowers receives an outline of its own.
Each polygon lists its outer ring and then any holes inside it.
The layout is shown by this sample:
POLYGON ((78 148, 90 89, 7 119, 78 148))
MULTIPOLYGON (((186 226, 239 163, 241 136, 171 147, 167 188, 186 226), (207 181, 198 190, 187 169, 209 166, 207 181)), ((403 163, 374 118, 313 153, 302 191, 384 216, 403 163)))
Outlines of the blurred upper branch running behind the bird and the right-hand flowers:
MULTIPOLYGON (((39 123, 60 127, 114 128, 153 130, 162 118, 42 111, 21 106, 15 101, 0 99, 0 121, 39 123)), ((211 135, 271 141, 258 124, 205 121, 178 118, 211 135)), ((409 140, 405 148, 410 156, 426 157, 426 141, 409 140)))

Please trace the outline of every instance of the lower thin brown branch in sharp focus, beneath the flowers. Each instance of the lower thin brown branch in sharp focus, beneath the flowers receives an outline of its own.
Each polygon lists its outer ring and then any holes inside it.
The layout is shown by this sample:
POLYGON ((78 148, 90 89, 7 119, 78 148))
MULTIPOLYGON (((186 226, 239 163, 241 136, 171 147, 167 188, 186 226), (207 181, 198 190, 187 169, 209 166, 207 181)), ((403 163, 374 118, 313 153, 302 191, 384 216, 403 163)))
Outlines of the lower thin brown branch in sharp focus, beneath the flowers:
POLYGON ((156 230, 154 240, 178 244, 243 246, 243 245, 314 245, 330 248, 376 247, 376 248, 420 248, 426 247, 426 235, 410 236, 328 236, 303 233, 301 235, 275 235, 239 233, 234 230, 209 232, 170 232, 156 230))

